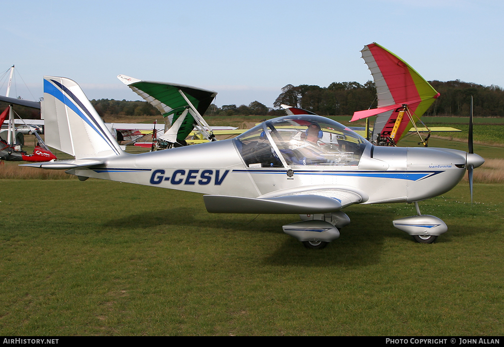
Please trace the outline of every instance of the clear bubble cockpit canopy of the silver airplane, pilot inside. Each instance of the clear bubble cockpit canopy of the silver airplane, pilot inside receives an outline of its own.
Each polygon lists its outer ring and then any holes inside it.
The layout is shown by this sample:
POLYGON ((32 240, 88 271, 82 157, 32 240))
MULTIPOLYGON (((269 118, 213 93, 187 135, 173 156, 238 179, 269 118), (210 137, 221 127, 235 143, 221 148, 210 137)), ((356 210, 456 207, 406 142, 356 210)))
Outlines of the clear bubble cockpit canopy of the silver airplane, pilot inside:
POLYGON ((357 166, 371 145, 349 128, 318 115, 265 121, 234 139, 247 167, 357 166))

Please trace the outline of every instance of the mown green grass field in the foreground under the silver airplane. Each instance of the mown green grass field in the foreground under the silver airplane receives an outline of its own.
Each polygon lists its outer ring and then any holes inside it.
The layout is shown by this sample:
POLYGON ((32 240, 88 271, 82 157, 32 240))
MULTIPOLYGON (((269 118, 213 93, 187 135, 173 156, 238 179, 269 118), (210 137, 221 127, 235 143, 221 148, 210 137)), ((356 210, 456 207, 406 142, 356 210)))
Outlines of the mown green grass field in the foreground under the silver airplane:
POLYGON ((199 194, 90 179, 3 180, 2 335, 502 335, 504 185, 420 203, 432 245, 354 205, 321 251, 295 215, 206 212, 199 194), (34 193, 35 192, 35 193, 34 193))

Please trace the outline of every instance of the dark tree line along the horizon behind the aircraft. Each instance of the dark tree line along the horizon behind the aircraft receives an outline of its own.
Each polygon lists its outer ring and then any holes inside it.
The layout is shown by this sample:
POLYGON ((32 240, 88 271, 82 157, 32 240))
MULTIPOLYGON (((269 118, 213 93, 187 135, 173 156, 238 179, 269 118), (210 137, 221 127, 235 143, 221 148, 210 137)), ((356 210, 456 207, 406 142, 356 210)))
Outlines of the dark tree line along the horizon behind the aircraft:
MULTIPOLYGON (((460 80, 441 82, 429 81, 441 95, 426 111, 426 115, 469 115, 471 96, 474 100, 474 114, 478 117, 504 117, 504 90, 495 85, 483 86, 460 80)), ((159 115, 159 111, 146 101, 114 99, 91 100, 91 104, 103 118, 106 115, 159 115)), ((286 104, 307 109, 320 115, 351 115, 354 111, 376 107, 374 82, 363 85, 358 82, 333 82, 328 87, 288 84, 282 88, 273 106, 267 107, 259 101, 248 105, 235 104, 218 107, 211 104, 205 116, 214 115, 284 115, 280 105, 286 104)), ((0 111, 7 107, 0 102, 0 111)), ((40 111, 33 108, 15 106, 23 119, 39 119, 40 111)))

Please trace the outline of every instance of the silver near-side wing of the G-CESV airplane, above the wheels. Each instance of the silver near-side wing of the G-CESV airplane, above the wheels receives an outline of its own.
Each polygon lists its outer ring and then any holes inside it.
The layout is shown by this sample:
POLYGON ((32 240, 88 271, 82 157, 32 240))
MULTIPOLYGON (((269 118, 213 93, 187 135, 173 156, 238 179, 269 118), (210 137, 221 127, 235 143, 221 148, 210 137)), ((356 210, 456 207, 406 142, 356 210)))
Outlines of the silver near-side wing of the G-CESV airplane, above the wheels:
POLYGON ((204 195, 203 200, 210 213, 308 214, 336 212, 367 199, 342 189, 313 189, 260 198, 204 195))

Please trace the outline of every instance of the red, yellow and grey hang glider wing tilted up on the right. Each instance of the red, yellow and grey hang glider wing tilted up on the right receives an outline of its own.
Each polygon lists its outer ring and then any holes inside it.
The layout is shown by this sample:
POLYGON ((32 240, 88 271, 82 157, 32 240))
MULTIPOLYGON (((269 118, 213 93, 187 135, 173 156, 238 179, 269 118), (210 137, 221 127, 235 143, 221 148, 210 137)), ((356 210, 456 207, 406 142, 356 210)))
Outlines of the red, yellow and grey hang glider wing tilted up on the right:
POLYGON ((413 126, 406 116, 396 125, 403 105, 408 106, 413 120, 417 121, 439 93, 408 63, 385 47, 371 43, 361 52, 376 85, 378 106, 355 112, 351 121, 376 115, 373 139, 377 134, 389 137, 396 126, 394 141, 397 143, 413 126))

